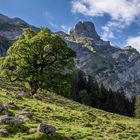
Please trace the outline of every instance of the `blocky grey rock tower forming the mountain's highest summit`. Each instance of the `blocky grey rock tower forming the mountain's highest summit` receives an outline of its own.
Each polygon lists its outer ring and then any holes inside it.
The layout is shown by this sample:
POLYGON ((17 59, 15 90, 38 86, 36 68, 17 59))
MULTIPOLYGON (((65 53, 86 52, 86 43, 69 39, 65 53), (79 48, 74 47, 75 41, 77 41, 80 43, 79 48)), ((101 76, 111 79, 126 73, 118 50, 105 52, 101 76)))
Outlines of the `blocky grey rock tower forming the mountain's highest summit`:
POLYGON ((96 40, 100 39, 94 24, 90 21, 79 21, 75 27, 70 30, 70 35, 91 37, 96 40))

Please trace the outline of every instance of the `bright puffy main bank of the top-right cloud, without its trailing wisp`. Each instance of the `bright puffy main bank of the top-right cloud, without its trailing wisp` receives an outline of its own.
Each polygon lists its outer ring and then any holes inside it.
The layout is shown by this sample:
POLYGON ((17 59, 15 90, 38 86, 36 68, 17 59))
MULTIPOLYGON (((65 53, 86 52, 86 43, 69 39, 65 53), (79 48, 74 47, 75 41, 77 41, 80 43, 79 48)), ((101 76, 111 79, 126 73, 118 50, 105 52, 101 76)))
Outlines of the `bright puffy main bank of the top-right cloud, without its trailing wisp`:
POLYGON ((108 14, 113 20, 132 22, 140 14, 139 0, 73 0, 72 11, 87 16, 108 14))

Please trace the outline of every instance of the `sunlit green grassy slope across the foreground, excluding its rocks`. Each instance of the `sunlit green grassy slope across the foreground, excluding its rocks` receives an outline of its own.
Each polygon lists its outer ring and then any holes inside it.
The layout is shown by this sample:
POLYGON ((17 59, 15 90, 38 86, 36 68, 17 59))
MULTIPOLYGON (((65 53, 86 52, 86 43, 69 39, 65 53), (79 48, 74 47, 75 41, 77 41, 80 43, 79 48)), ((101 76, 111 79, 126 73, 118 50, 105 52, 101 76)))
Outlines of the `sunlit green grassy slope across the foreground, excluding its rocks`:
POLYGON ((0 82, 0 102, 16 116, 17 111, 28 108, 33 117, 20 126, 0 125, 9 136, 0 136, 0 140, 140 140, 140 120, 91 108, 61 96, 42 91, 41 100, 31 97, 15 98, 21 89, 0 82), (7 105, 13 101, 16 107, 7 105), (49 137, 43 133, 30 132, 39 123, 48 123, 56 127, 57 135, 49 137), (64 139, 65 140, 65 139, 64 139))

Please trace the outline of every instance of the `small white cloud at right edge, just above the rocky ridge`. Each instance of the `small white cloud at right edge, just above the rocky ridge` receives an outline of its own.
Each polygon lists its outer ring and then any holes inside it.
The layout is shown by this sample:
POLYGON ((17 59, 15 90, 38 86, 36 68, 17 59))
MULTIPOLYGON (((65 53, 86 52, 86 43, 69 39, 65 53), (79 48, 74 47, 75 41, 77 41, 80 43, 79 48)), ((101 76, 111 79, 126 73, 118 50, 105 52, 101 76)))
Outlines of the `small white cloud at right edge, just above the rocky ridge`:
POLYGON ((126 41, 126 45, 131 45, 133 48, 140 52, 140 36, 130 37, 126 41))

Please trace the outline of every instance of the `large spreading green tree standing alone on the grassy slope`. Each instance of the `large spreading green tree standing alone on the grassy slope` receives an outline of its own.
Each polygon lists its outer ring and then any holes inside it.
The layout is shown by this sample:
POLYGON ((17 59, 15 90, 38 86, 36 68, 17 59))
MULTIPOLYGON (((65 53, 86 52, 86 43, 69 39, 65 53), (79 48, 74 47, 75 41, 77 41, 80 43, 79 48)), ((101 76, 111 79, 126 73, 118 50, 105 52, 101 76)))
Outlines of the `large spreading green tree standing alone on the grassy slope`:
POLYGON ((39 88, 62 90, 69 85, 75 52, 49 30, 25 29, 21 37, 1 58, 1 74, 11 81, 24 81, 35 94, 39 88), (55 86, 58 84, 58 87, 55 86))

